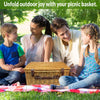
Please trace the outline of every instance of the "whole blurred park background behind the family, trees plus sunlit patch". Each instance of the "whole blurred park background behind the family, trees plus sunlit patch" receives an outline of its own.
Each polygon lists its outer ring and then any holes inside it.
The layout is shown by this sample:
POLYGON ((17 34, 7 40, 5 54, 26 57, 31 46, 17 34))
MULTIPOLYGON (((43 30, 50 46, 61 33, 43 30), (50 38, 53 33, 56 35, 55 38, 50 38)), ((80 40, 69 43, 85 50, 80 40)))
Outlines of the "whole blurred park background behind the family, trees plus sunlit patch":
MULTIPOLYGON (((71 29, 79 30, 82 25, 88 23, 95 23, 100 27, 100 9, 0 9, 0 26, 3 23, 16 24, 20 44, 20 38, 30 33, 30 21, 36 15, 44 16, 50 23, 55 17, 64 18, 71 29)), ((0 35, 0 44, 2 42, 0 35)))

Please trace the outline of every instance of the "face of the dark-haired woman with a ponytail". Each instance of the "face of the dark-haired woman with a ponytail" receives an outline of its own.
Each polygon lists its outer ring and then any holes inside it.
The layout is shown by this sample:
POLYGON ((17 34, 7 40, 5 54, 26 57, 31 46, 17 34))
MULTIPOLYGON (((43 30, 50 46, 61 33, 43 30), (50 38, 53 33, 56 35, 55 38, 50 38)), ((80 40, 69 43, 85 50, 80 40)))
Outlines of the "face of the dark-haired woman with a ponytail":
POLYGON ((32 35, 40 35, 43 30, 43 27, 39 27, 38 24, 31 22, 30 30, 32 32, 32 35))

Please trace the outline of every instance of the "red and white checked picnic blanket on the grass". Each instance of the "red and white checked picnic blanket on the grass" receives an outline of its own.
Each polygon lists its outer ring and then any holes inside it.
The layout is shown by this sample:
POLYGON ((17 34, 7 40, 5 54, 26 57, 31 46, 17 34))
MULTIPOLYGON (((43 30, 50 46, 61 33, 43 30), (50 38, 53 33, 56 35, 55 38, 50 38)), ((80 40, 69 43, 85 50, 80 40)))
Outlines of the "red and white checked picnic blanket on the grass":
POLYGON ((20 85, 20 86, 0 86, 0 92, 14 91, 14 92, 74 92, 74 93, 99 93, 100 89, 49 89, 49 85, 20 85))

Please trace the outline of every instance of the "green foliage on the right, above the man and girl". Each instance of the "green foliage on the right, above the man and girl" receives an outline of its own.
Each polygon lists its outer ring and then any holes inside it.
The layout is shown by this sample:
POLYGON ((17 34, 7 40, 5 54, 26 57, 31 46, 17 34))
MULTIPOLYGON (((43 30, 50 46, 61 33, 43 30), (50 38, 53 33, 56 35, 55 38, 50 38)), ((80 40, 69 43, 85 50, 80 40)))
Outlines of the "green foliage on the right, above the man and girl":
POLYGON ((61 17, 68 21, 70 26, 95 23, 100 26, 100 9, 42 9, 39 14, 50 22, 55 17, 61 17))

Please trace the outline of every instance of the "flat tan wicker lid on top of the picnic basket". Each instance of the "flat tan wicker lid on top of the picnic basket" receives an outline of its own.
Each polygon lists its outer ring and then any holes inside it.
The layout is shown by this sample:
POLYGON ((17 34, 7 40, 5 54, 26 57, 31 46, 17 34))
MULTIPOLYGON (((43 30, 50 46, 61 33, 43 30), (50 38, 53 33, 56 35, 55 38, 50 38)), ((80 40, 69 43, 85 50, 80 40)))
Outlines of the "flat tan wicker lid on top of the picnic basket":
POLYGON ((25 70, 60 70, 62 68, 70 69, 70 67, 63 62, 31 62, 25 67, 25 70))

